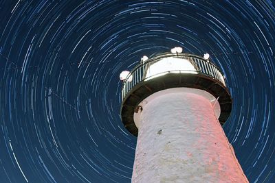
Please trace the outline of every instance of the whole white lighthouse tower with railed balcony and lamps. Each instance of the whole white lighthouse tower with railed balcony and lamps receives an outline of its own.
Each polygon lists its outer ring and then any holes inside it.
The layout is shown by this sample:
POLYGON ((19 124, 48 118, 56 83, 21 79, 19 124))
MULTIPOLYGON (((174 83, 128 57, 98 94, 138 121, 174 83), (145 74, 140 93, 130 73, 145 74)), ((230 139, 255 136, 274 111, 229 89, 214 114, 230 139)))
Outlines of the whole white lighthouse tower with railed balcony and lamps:
POLYGON ((121 119, 137 136, 132 182, 248 182, 221 127, 232 98, 208 54, 175 47, 120 79, 121 119))

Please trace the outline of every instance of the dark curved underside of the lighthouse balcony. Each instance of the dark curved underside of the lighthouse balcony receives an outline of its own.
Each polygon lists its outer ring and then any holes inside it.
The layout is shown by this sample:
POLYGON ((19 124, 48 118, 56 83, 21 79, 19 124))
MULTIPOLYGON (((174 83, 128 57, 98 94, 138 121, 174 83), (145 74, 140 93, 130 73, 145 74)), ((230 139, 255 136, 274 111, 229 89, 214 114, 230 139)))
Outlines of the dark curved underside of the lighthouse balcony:
POLYGON ((166 73, 166 75, 154 77, 153 80, 139 82, 126 93, 121 107, 121 118, 126 129, 137 136, 138 130, 133 121, 133 114, 137 105, 159 90, 177 87, 206 90, 214 97, 219 97, 218 101, 221 107, 219 122, 223 125, 228 119, 232 108, 232 99, 227 88, 221 82, 202 73, 166 73))

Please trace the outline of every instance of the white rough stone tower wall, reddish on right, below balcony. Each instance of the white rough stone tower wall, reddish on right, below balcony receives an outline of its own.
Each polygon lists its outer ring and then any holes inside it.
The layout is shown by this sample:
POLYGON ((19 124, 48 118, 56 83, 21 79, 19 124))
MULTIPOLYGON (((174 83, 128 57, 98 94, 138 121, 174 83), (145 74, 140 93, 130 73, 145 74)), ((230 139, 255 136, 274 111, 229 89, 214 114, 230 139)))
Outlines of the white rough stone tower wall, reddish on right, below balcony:
POLYGON ((210 100, 176 90, 147 97, 135 113, 132 182, 248 182, 210 100))

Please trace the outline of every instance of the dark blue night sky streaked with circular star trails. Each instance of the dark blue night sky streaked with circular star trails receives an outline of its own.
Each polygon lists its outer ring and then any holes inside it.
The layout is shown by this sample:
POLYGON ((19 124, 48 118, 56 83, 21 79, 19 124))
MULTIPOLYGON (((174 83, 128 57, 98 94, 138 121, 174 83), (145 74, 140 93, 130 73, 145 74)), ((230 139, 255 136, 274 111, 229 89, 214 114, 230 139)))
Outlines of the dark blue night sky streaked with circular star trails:
POLYGON ((0 182, 131 182, 119 75, 175 46, 225 73, 223 130, 275 182, 275 1, 1 0, 0 34, 0 182))

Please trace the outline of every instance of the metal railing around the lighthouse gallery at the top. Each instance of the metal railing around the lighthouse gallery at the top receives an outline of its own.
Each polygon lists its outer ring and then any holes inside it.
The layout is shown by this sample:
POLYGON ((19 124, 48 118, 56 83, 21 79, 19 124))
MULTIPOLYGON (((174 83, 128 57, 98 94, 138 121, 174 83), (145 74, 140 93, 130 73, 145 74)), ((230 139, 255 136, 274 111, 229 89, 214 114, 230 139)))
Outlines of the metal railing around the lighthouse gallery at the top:
POLYGON ((166 73, 190 73, 190 74, 200 74, 200 75, 206 75, 208 77, 212 77, 215 80, 218 80, 225 86, 225 80, 223 78, 223 75, 221 74, 221 71, 212 64, 209 60, 205 60, 204 58, 201 58, 199 56, 191 55, 188 53, 166 53, 161 56, 156 56, 154 58, 148 59, 143 63, 138 64, 135 66, 133 71, 127 75, 126 79, 123 82, 122 85, 122 101, 127 93, 139 82, 143 82, 146 80, 149 80, 152 77, 158 77, 159 75, 164 75, 166 73), (155 75, 148 75, 148 69, 150 67, 159 62, 159 60, 162 60, 163 58, 180 58, 184 60, 188 60, 190 64, 194 67, 195 70, 186 70, 186 69, 180 69, 180 70, 167 70, 164 72, 156 73, 155 75))

